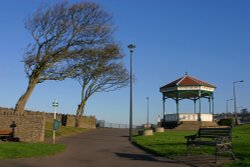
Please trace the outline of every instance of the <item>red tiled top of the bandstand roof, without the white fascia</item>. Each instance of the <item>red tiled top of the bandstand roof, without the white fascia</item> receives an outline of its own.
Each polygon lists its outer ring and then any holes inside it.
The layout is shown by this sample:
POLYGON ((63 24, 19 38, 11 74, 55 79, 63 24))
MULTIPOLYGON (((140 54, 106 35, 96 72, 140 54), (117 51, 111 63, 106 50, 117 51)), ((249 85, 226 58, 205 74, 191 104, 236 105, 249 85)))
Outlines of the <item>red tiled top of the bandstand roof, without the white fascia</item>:
POLYGON ((214 86, 212 84, 209 84, 207 82, 204 82, 204 81, 201 81, 199 79, 185 75, 185 76, 183 76, 183 77, 181 77, 173 82, 170 82, 169 84, 166 84, 165 86, 161 87, 160 89, 177 87, 177 86, 207 86, 207 87, 216 88, 216 86, 214 86))

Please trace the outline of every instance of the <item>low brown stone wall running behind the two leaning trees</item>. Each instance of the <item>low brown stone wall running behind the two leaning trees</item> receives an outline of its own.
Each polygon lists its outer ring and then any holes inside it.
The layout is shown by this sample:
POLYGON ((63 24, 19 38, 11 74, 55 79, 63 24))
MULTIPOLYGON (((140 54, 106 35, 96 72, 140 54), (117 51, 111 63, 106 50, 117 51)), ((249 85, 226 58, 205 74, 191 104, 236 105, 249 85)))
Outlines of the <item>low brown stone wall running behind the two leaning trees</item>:
MULTIPOLYGON (((56 114, 57 120, 61 121, 62 115, 56 114)), ((16 133, 24 142, 42 142, 44 140, 45 123, 53 123, 54 114, 25 111, 22 115, 16 115, 12 108, 0 107, 0 129, 9 128, 12 122, 15 121, 16 133)), ((75 115, 67 115, 66 126, 75 126, 75 115)), ((93 116, 83 116, 80 119, 79 126, 81 128, 93 129, 96 128, 96 118, 93 116)))

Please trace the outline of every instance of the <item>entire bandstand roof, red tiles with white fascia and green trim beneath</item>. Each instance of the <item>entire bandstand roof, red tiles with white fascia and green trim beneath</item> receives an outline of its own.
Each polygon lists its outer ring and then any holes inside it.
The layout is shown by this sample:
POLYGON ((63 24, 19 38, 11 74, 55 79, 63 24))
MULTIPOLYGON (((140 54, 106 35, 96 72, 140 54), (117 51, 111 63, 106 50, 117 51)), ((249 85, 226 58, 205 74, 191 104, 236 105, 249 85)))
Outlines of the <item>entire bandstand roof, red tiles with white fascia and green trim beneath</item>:
POLYGON ((196 99, 199 97, 209 97, 213 94, 216 86, 205 81, 185 75, 160 88, 164 96, 170 98, 196 99))

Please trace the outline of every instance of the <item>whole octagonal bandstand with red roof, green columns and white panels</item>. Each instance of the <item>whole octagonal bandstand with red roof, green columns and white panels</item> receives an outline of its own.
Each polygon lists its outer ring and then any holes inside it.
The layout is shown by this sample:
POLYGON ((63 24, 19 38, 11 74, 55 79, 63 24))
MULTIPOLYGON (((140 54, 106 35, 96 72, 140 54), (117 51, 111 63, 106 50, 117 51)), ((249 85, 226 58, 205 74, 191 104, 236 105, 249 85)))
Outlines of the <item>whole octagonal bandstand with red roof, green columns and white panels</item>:
POLYGON ((183 77, 166 84, 160 88, 163 95, 163 123, 176 122, 213 122, 214 115, 214 90, 215 86, 185 74, 183 77), (208 113, 201 110, 201 99, 208 100, 208 113), (166 100, 173 99, 176 102, 176 113, 166 113, 166 100), (193 113, 180 113, 179 105, 183 99, 192 100, 194 103, 193 113), (197 111, 198 102, 198 111, 197 111))

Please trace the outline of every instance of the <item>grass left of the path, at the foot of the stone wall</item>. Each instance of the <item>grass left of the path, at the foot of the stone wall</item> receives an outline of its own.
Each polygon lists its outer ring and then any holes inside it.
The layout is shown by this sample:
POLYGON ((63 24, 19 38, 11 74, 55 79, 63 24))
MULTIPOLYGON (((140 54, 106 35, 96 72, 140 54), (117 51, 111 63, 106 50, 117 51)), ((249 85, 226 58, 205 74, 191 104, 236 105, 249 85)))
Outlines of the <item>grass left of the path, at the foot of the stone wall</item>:
MULTIPOLYGON (((60 126, 56 137, 65 137, 86 131, 83 128, 60 126)), ((52 124, 46 123, 45 138, 52 138, 52 124)), ((51 139, 52 141, 52 139, 51 139)), ((0 142, 0 159, 29 158, 55 155, 63 152, 66 146, 63 144, 0 142)))

